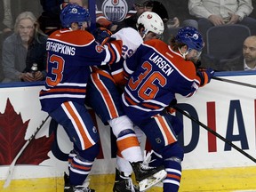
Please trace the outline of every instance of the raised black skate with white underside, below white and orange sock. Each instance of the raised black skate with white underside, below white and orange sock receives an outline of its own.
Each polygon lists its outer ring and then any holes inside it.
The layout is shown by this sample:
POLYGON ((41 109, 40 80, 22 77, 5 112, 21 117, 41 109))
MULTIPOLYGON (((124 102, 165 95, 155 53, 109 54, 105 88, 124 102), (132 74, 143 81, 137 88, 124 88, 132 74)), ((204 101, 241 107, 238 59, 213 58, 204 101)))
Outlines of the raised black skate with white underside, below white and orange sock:
POLYGON ((150 167, 142 162, 131 163, 136 180, 139 182, 140 191, 153 187, 156 183, 164 180, 167 172, 164 166, 150 167))

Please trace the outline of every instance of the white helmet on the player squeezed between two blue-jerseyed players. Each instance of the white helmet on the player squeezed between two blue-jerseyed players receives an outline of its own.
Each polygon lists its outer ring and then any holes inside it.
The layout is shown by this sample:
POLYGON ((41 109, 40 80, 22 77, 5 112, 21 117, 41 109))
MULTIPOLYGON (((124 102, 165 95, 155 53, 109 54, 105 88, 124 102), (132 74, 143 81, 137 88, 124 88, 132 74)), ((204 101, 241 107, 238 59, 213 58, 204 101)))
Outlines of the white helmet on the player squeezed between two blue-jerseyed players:
POLYGON ((145 36, 149 31, 162 35, 164 33, 164 22, 156 12, 143 12, 137 20, 137 28, 142 24, 145 28, 145 36))

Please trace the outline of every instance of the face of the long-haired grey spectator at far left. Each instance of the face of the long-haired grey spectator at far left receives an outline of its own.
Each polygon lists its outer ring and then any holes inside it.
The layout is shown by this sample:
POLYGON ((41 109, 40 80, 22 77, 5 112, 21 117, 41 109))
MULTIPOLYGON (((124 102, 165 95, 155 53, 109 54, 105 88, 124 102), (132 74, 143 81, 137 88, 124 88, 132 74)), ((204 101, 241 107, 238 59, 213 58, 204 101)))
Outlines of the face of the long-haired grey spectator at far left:
POLYGON ((28 42, 31 38, 33 38, 35 26, 32 20, 20 20, 18 28, 22 42, 28 42))

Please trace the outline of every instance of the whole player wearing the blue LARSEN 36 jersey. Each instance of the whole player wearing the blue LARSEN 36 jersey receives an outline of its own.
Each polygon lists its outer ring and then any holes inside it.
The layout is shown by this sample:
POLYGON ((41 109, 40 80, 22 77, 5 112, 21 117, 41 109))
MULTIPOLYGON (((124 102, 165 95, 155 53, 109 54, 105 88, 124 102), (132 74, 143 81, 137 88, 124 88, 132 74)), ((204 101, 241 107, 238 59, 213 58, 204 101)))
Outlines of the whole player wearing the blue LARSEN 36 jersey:
POLYGON ((196 71, 191 61, 203 47, 203 38, 196 28, 185 27, 172 38, 171 45, 157 39, 144 42, 124 65, 129 78, 122 94, 124 112, 162 156, 167 172, 164 192, 179 190, 184 154, 172 128, 172 115, 163 111, 175 94, 190 97, 210 82, 214 71, 196 71))

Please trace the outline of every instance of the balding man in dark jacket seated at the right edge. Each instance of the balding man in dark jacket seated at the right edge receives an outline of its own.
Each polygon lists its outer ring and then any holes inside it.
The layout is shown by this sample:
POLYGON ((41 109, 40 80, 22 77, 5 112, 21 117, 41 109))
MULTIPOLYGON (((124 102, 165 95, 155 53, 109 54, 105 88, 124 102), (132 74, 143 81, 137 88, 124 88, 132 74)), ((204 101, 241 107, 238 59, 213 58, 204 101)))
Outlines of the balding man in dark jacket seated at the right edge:
POLYGON ((244 40, 243 54, 233 60, 229 60, 223 70, 256 70, 256 36, 248 36, 244 40))

